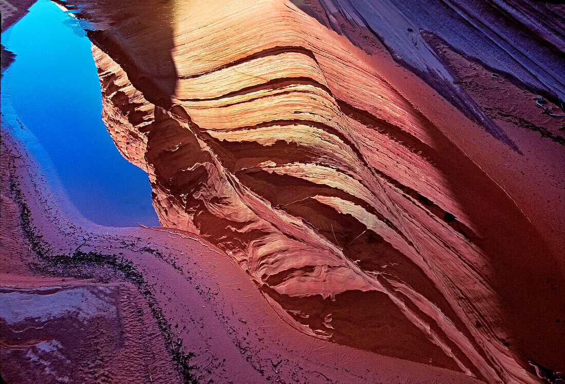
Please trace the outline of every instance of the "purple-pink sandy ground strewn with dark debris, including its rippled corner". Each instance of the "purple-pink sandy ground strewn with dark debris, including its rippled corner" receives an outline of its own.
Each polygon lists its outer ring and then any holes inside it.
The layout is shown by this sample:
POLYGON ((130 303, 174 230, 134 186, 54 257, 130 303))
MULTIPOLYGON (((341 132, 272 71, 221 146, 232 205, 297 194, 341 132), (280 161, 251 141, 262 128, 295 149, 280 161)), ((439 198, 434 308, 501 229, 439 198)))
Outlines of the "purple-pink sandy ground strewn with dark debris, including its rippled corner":
POLYGON ((309 337, 194 234, 105 228, 67 216, 72 210, 55 201, 3 125, 1 373, 8 382, 476 382, 309 337))

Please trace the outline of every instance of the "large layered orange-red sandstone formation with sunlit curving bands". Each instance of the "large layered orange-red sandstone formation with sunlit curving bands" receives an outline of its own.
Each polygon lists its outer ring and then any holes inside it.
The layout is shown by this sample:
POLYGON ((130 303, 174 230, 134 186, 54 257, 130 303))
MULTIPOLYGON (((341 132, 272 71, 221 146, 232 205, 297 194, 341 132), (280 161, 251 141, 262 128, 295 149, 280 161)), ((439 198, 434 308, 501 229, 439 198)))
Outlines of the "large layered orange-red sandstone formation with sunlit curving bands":
POLYGON ((160 223, 224 250, 290 324, 489 382, 559 369, 554 256, 349 41, 285 1, 63 4, 160 223))

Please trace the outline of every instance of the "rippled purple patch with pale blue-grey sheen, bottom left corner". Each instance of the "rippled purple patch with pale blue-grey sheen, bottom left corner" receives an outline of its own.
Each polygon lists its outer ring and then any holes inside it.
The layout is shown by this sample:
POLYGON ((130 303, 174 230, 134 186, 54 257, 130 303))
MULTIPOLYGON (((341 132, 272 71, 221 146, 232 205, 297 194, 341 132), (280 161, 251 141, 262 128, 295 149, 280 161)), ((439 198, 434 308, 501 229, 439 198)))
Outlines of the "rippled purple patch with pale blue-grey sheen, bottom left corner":
POLYGON ((9 286, 0 288, 6 382, 141 382, 148 373, 155 381, 179 381, 131 284, 13 274, 0 281, 9 286))

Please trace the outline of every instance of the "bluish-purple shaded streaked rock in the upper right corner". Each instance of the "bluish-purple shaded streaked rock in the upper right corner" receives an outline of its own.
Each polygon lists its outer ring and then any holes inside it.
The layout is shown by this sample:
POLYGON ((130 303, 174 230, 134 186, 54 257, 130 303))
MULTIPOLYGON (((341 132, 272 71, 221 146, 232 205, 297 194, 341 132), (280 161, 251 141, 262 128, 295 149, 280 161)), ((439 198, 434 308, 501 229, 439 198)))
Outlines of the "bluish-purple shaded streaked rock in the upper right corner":
POLYGON ((486 67, 562 105, 565 7, 537 1, 294 0, 298 7, 374 53, 377 40, 467 117, 517 149, 457 84, 433 45, 439 38, 486 67))

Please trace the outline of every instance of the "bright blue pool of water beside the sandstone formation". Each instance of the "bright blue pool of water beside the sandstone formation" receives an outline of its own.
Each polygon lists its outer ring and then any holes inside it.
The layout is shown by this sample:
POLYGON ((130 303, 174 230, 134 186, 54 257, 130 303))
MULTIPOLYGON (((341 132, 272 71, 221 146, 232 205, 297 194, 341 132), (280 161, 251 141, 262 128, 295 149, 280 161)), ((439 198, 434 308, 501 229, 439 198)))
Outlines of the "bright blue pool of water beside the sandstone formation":
POLYGON ((158 225, 147 174, 120 155, 102 122, 90 41, 71 21, 40 0, 2 33, 16 54, 2 77, 2 99, 11 99, 82 215, 109 226, 158 225))

